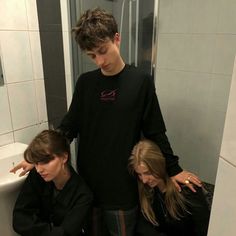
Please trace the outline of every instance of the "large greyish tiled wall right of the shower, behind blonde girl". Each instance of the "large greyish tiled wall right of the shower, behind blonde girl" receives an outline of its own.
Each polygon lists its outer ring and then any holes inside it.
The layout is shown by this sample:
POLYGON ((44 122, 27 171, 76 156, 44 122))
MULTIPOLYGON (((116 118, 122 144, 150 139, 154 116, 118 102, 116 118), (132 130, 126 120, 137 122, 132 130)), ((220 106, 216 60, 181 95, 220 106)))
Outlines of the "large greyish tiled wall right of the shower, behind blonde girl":
POLYGON ((183 168, 214 183, 236 53, 236 1, 160 0, 156 87, 183 168))

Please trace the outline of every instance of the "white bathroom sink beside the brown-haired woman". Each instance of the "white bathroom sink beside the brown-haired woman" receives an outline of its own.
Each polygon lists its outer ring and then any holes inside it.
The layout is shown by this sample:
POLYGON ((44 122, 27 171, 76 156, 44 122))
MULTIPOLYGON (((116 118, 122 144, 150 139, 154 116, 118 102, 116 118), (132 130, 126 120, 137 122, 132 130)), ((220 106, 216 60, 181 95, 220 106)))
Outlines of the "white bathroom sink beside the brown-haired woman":
POLYGON ((12 143, 0 147, 0 229, 1 235, 17 235, 12 229, 12 210, 20 187, 26 176, 10 173, 10 169, 21 162, 27 148, 23 143, 12 143))

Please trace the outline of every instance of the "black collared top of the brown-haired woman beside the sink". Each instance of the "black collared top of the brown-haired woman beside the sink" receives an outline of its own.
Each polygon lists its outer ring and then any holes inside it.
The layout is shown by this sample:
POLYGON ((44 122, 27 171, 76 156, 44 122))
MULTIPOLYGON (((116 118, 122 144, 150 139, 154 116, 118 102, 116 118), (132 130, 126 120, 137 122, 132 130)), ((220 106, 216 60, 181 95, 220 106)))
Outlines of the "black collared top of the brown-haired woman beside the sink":
POLYGON ((17 198, 13 228, 22 236, 79 236, 91 204, 91 191, 72 168, 61 191, 33 169, 17 198))

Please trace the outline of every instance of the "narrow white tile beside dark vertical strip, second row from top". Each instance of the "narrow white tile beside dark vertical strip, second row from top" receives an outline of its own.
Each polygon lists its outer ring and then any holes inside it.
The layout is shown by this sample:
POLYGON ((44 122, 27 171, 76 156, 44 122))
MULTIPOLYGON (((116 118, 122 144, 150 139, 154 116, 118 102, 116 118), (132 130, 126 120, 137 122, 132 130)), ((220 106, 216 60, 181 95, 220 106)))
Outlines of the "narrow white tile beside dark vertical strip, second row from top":
POLYGON ((43 74, 43 62, 42 62, 42 51, 40 44, 39 32, 29 32, 31 56, 33 62, 33 73, 35 79, 42 79, 43 74))

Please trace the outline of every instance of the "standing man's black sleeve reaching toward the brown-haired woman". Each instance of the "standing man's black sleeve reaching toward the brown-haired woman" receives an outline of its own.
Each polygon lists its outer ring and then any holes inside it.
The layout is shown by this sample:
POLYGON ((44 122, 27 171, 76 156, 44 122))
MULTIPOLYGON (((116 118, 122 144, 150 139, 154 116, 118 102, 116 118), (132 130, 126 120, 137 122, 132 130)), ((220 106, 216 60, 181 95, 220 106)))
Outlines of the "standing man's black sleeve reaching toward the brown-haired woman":
POLYGON ((61 124, 57 127, 57 130, 61 131, 70 142, 72 142, 74 138, 77 138, 79 132, 79 114, 81 105, 79 103, 79 94, 83 91, 81 89, 81 84, 82 76, 77 80, 69 110, 63 117, 61 124))

